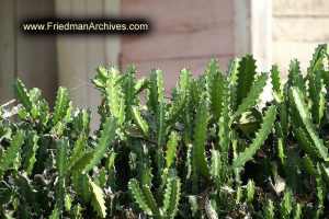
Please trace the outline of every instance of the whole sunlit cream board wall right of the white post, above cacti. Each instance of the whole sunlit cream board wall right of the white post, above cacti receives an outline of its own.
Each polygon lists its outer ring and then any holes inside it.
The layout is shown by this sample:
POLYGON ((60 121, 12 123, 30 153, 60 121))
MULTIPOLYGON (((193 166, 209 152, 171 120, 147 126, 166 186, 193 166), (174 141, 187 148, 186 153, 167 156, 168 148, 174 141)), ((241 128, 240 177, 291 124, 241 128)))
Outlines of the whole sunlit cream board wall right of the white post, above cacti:
POLYGON ((273 62, 287 72, 292 58, 305 72, 315 47, 329 43, 328 0, 273 0, 273 62))

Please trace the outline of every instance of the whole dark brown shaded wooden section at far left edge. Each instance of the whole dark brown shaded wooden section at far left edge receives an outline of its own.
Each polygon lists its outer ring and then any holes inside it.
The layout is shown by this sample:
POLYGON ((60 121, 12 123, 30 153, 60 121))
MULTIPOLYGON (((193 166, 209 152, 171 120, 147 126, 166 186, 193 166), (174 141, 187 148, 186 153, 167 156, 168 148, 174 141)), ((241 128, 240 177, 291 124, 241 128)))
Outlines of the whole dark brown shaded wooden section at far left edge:
POLYGON ((55 37, 26 35, 20 25, 23 19, 52 16, 54 12, 54 0, 0 1, 1 102, 13 97, 11 84, 20 78, 29 89, 39 88, 52 105, 57 88, 55 37))

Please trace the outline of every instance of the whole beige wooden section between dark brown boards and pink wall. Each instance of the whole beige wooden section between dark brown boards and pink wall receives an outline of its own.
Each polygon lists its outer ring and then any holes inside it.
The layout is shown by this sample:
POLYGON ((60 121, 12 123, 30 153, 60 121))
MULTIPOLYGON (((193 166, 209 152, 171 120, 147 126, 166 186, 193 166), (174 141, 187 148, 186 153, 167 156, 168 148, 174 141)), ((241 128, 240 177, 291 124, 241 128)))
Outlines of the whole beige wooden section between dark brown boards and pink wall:
MULTIPOLYGON (((117 15, 120 0, 56 0, 57 16, 106 18, 117 15)), ((118 65, 118 36, 58 36, 59 84, 68 88, 77 107, 90 107, 92 129, 99 127, 98 105, 101 96, 90 79, 99 66, 118 65)))

